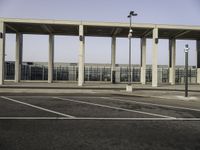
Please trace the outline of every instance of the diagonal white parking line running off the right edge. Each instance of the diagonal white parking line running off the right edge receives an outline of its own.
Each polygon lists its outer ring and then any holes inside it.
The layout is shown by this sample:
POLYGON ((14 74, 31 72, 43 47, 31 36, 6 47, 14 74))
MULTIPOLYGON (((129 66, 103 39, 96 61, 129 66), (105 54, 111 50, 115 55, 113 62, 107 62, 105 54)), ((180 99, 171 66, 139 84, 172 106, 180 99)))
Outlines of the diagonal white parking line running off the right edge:
POLYGON ((148 102, 138 102, 134 100, 121 100, 119 98, 110 98, 110 97, 100 97, 102 99, 107 100, 113 100, 113 101, 121 101, 121 102, 130 102, 130 103, 137 103, 137 104, 143 104, 143 105, 152 105, 152 106, 158 106, 158 107, 166 107, 166 108, 175 108, 175 109, 183 109, 183 110, 191 110, 191 111, 198 111, 200 112, 200 109, 194 109, 194 108, 188 108, 188 107, 179 107, 179 106, 171 106, 171 105, 163 105, 163 104, 153 104, 148 102))

